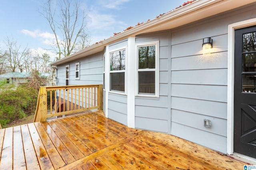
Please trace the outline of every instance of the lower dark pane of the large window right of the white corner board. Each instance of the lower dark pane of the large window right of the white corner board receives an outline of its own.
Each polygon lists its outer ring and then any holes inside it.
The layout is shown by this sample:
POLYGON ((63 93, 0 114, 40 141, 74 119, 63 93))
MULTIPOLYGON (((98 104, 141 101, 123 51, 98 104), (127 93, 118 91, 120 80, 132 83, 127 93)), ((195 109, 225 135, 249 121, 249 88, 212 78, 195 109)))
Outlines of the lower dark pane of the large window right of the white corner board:
POLYGON ((139 71, 138 72, 138 92, 139 94, 155 94, 155 72, 139 71))

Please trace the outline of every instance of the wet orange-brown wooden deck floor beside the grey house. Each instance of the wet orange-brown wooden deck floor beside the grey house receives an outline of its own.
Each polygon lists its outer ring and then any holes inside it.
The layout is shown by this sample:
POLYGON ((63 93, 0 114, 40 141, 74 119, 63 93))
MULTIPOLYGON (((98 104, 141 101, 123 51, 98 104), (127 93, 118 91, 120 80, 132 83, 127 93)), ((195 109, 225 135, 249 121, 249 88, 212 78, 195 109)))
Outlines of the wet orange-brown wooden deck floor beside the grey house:
POLYGON ((1 170, 243 169, 245 163, 172 135, 88 112, 0 129, 1 170))

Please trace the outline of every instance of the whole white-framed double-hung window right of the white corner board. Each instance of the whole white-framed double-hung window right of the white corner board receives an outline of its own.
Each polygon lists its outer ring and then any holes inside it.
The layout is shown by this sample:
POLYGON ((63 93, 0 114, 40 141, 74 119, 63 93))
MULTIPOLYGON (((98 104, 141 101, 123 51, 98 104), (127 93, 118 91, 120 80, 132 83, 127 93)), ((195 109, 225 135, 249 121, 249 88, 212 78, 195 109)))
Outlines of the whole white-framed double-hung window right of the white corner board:
POLYGON ((158 97, 158 41, 137 47, 137 95, 158 97))

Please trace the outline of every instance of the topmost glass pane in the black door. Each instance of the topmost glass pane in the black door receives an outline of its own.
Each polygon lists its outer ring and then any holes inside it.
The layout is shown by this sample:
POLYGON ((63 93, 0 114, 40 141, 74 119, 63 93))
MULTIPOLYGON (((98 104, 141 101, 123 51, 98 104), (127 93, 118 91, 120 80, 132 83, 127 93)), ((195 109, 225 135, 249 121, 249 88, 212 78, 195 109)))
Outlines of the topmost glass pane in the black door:
POLYGON ((243 34, 243 52, 256 51, 256 32, 243 34))

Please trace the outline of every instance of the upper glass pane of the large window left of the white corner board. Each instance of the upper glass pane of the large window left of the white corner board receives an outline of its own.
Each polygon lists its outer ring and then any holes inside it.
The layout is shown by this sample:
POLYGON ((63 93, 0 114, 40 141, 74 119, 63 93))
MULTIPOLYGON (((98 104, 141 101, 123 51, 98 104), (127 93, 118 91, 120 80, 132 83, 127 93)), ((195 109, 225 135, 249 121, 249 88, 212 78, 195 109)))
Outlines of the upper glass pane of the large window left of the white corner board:
POLYGON ((110 53, 110 71, 125 70, 125 50, 110 53))

